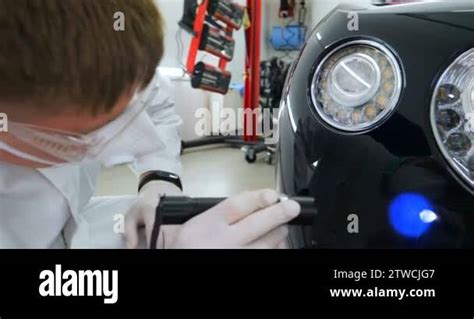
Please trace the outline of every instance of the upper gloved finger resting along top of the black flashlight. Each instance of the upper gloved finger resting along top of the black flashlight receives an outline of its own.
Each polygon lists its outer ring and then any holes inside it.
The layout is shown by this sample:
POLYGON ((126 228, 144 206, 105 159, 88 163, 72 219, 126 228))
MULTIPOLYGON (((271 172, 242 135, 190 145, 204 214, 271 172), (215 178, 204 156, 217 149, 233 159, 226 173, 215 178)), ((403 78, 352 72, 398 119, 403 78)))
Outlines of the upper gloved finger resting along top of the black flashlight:
POLYGON ((207 213, 212 218, 220 215, 227 224, 234 224, 239 220, 275 204, 278 201, 278 193, 274 190, 260 190, 254 192, 244 192, 231 197, 210 209, 207 213))

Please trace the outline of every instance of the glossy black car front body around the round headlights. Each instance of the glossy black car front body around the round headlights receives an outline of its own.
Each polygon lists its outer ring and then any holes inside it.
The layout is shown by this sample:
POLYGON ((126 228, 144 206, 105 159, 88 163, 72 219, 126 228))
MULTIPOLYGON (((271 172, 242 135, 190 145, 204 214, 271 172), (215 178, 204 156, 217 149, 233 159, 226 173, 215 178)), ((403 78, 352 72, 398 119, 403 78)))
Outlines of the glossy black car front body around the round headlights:
POLYGON ((360 29, 353 32, 347 28, 352 10, 339 7, 316 27, 290 71, 283 95, 280 190, 314 196, 319 210, 306 244, 316 248, 474 247, 473 192, 449 168, 430 124, 437 80, 459 54, 474 47, 474 2, 361 10, 360 29), (354 39, 386 45, 404 73, 394 114, 359 135, 328 127, 310 98, 314 70, 324 54, 354 39), (420 238, 401 236, 389 223, 389 205, 402 193, 423 195, 439 216, 420 238), (350 214, 359 216, 358 234, 347 231, 350 214))

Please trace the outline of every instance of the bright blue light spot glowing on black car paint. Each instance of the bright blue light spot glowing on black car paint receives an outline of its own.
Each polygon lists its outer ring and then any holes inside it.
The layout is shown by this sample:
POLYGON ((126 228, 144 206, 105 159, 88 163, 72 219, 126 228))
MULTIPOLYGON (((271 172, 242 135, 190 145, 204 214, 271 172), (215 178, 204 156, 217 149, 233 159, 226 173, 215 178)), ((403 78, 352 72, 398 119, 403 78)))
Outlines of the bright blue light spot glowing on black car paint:
POLYGON ((390 223, 403 236, 420 237, 436 219, 431 203, 420 194, 401 194, 390 204, 390 223))

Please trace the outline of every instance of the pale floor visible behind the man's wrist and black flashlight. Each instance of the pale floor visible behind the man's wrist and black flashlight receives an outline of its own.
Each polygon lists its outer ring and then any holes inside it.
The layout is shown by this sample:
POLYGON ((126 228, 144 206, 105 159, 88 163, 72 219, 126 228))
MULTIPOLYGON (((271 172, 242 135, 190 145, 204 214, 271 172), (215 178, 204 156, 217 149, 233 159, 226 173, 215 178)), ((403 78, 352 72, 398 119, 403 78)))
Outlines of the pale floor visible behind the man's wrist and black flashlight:
MULTIPOLYGON (((268 165, 263 158, 248 164, 244 156, 240 149, 225 147, 187 151, 182 157, 185 193, 221 197, 244 190, 274 188, 275 166, 268 165)), ((97 195, 135 194, 136 188, 135 174, 128 167, 116 167, 101 176, 97 195)))

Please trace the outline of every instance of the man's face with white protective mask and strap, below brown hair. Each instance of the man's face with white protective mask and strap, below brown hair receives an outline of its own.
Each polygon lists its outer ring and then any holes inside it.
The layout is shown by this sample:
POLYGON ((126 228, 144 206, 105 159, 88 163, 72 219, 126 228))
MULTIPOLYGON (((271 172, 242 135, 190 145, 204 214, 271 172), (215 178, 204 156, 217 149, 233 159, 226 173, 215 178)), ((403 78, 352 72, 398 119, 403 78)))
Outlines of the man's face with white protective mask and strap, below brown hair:
POLYGON ((127 163, 163 146, 151 139, 154 126, 144 112, 146 101, 155 90, 135 94, 127 109, 104 127, 79 135, 22 123, 9 123, 9 134, 48 158, 15 149, 0 140, 0 149, 16 157, 47 166, 100 161, 105 166, 127 163), (148 139, 147 139, 148 137, 148 139))

